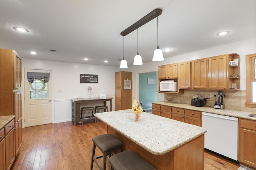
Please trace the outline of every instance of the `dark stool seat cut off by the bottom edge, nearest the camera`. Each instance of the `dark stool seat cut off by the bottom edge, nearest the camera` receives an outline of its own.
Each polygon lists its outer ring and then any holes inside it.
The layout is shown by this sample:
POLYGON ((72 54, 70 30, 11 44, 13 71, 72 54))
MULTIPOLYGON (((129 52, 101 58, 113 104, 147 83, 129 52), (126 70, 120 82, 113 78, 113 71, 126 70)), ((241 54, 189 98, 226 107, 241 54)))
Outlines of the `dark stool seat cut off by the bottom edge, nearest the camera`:
POLYGON ((132 150, 120 152, 108 158, 111 170, 156 170, 132 150))

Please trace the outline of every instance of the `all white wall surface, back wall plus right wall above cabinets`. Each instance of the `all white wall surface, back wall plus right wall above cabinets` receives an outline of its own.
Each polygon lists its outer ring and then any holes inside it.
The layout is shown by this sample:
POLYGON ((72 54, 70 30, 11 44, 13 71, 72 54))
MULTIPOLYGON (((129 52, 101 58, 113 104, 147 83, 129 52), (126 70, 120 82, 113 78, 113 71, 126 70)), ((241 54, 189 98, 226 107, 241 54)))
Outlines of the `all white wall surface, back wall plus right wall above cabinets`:
MULTIPOLYGON (((171 54, 172 52, 170 52, 171 54)), ((138 98, 138 74, 143 72, 158 71, 159 65, 179 63, 182 61, 190 61, 216 55, 229 53, 238 53, 240 55, 240 89, 246 89, 245 74, 245 55, 256 53, 256 38, 237 41, 226 45, 212 47, 208 49, 198 50, 190 53, 184 53, 174 57, 166 58, 168 53, 164 52, 164 61, 144 63, 140 66, 129 66, 126 69, 119 67, 101 66, 92 64, 66 63, 58 61, 45 61, 36 59, 22 59, 22 73, 24 68, 29 69, 50 69, 53 70, 53 123, 71 120, 71 98, 75 96, 83 97, 87 93, 87 87, 92 86, 93 92, 96 94, 107 94, 107 97, 115 96, 115 72, 131 71, 133 99, 138 98), (80 84, 80 74, 98 74, 98 84, 80 84), (62 93, 58 93, 62 90, 62 93)), ((152 54, 153 57, 153 54, 152 54)), ((143 56, 142 56, 143 61, 143 56)), ((22 76, 22 86, 24 87, 24 75, 22 76)), ((24 90, 23 90, 24 91, 24 90)), ((22 94, 24 96, 24 94, 22 94)), ((164 94, 158 94, 158 101, 164 99, 164 94)), ((24 104, 24 102, 22 103, 24 104)), ((115 108, 113 106, 113 108, 115 108)), ((22 111, 24 117, 24 106, 22 111)), ((23 122, 24 125, 24 122, 23 122)))

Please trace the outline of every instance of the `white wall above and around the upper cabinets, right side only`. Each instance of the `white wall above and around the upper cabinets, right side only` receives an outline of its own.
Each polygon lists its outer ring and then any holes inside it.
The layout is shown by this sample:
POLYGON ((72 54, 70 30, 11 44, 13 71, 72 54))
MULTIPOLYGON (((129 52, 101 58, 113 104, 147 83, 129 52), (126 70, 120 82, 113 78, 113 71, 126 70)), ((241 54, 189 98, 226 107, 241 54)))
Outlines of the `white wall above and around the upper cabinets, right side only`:
MULTIPOLYGON (((211 47, 208 49, 198 50, 190 53, 184 53, 182 55, 176 55, 173 57, 167 57, 168 52, 164 53, 164 61, 158 62, 150 62, 145 63, 141 66, 130 66, 128 67, 128 71, 132 71, 132 80, 133 80, 133 96, 138 96, 138 91, 134 89, 138 89, 138 83, 136 83, 136 76, 142 72, 151 72, 158 71, 158 66, 172 63, 179 63, 183 61, 190 61, 195 59, 202 59, 206 57, 213 57, 217 55, 238 53, 240 55, 240 89, 246 90, 246 69, 245 69, 245 55, 256 53, 256 37, 251 39, 246 39, 243 41, 236 41, 233 43, 229 43, 226 45, 221 45, 217 47, 211 47)), ((170 51, 170 54, 172 51, 170 51)), ((153 54, 152 54, 153 58, 153 54)), ((142 56, 143 61, 143 56, 142 56)), ((138 81, 137 81, 138 82, 138 81)), ((158 93, 158 101, 163 101, 164 94, 158 93)))

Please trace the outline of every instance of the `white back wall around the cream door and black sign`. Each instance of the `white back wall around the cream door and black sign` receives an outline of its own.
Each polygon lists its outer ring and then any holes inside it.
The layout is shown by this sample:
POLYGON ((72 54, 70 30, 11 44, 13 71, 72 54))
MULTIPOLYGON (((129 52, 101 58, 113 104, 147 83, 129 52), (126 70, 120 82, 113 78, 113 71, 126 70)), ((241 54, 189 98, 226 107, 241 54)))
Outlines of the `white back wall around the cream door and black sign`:
MULTIPOLYGON (((24 69, 53 70, 52 123, 71 121, 70 99, 76 96, 84 98, 88 94, 88 86, 92 87, 94 94, 106 94, 107 97, 113 97, 112 108, 113 110, 115 108, 115 72, 120 71, 119 67, 22 58, 23 87, 25 81, 24 69), (80 84, 80 74, 97 74, 98 84, 80 84), (62 92, 58 93, 58 90, 62 92)), ((22 95, 24 96, 25 94, 22 95)), ((24 117, 24 102, 22 104, 22 117, 24 117)))

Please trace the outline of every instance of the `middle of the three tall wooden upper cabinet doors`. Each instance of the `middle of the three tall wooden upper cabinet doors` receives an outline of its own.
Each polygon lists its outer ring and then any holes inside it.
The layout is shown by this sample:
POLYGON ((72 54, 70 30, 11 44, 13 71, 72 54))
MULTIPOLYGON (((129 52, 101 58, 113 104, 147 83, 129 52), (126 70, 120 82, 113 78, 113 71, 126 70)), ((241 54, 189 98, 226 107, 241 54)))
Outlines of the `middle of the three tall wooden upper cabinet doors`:
POLYGON ((192 64, 192 88, 207 89, 207 59, 194 60, 192 64))

